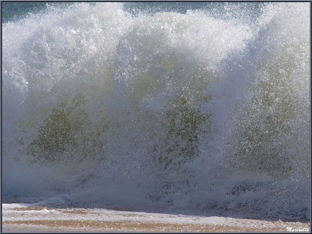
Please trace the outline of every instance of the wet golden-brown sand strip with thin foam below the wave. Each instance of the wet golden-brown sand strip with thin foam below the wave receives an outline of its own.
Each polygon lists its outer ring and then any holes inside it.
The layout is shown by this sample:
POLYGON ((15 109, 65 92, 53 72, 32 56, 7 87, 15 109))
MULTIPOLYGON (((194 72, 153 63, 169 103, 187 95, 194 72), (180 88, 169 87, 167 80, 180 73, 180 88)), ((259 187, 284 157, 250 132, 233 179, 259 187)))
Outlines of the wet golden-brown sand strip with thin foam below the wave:
POLYGON ((3 231, 278 231, 308 232, 309 220, 267 221, 108 209, 3 204, 3 231))

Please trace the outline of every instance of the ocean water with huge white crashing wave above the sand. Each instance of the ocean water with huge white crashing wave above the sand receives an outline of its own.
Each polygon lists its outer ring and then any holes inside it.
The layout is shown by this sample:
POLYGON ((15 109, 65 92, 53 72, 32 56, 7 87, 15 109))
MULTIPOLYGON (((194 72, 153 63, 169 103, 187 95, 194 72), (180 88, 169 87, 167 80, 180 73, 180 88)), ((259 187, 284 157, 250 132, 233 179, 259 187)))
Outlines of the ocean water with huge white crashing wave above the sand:
POLYGON ((309 218, 309 3, 2 7, 3 202, 309 218))

